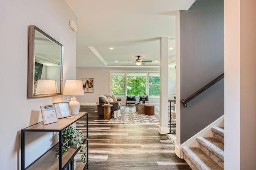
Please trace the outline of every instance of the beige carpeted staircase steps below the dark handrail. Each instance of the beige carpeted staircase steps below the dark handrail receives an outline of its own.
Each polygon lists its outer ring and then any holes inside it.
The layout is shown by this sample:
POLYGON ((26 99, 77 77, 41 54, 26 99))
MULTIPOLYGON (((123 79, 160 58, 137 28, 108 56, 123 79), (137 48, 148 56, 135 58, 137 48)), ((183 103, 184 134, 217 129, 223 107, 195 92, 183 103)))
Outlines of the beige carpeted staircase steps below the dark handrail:
POLYGON ((212 138, 196 138, 199 147, 182 148, 183 158, 193 170, 224 169, 224 127, 211 130, 212 138))

